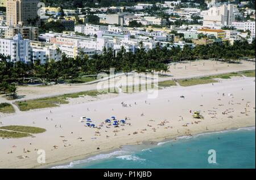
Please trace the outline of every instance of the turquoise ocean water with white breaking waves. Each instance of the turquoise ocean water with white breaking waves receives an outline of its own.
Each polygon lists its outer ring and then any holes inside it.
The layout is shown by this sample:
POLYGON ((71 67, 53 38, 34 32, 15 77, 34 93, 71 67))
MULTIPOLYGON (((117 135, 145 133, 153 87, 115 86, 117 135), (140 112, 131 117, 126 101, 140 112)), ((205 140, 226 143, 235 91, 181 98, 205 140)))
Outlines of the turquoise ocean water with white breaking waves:
POLYGON ((255 127, 129 145, 53 168, 255 168, 255 127), (216 164, 208 162, 210 149, 216 151, 216 164))

